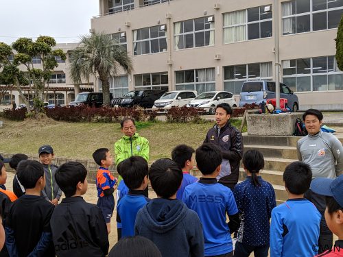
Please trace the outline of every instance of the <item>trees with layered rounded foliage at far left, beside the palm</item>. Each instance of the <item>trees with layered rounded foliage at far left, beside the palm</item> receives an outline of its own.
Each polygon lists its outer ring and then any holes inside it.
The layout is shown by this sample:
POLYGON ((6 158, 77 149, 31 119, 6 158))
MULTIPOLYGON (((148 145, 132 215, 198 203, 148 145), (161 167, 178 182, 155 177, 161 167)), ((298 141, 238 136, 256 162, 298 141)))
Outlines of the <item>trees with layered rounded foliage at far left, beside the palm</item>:
POLYGON ((29 110, 29 99, 22 93, 23 86, 31 88, 34 102, 34 116, 38 117, 44 112, 43 101, 45 99, 51 73, 58 62, 56 57, 66 59, 62 49, 52 49, 56 46, 56 40, 50 36, 39 36, 36 41, 32 38, 19 38, 10 45, 0 42, 0 82, 5 85, 16 86, 19 95, 29 110), (13 56, 11 62, 10 56, 13 56), (32 59, 38 57, 41 64, 34 64, 32 59))

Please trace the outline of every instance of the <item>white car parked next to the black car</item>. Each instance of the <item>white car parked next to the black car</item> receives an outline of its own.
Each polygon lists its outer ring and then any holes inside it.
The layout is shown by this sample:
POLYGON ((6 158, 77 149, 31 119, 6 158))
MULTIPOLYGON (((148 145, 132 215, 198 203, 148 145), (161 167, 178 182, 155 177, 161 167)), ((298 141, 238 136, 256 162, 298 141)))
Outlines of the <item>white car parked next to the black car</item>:
POLYGON ((191 100, 196 98, 196 91, 176 90, 164 93, 160 99, 154 102, 153 109, 170 108, 171 106, 186 106, 191 100))

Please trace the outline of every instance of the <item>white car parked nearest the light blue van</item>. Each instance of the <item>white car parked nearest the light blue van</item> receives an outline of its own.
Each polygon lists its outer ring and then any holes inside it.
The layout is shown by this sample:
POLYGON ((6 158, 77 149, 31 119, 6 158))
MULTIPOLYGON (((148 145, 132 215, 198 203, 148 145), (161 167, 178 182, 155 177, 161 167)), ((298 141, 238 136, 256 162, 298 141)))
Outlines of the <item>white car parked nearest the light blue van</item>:
POLYGON ((226 91, 204 92, 189 102, 191 107, 203 107, 209 114, 215 114, 215 106, 220 103, 228 103, 231 107, 237 107, 233 93, 226 91))

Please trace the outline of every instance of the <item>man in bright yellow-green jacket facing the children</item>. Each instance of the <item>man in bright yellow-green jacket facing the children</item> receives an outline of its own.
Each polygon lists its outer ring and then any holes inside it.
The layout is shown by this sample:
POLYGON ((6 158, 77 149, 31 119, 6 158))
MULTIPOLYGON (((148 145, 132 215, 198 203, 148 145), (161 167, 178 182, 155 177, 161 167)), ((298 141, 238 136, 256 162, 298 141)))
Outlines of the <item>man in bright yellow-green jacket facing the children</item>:
MULTIPOLYGON (((121 122, 121 132, 124 136, 115 143, 115 165, 131 156, 141 156, 149 161, 149 141, 136 132, 134 119, 124 118, 121 122)), ((121 177, 119 176, 119 182, 121 177)), ((147 196, 147 188, 145 189, 147 196)))

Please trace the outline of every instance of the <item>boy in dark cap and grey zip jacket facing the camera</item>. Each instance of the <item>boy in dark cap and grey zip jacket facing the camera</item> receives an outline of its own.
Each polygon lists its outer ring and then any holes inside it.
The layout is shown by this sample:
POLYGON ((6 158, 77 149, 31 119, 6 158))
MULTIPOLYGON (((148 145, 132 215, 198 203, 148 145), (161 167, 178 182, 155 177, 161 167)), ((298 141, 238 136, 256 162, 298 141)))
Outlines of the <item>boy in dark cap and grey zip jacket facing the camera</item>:
POLYGON ((52 164, 54 159, 54 149, 50 145, 42 145, 38 149, 39 160, 43 164, 44 173, 45 173, 45 188, 42 191, 42 196, 45 197, 48 201, 51 201, 52 204, 57 205, 62 191, 56 183, 55 174, 57 166, 52 164))

